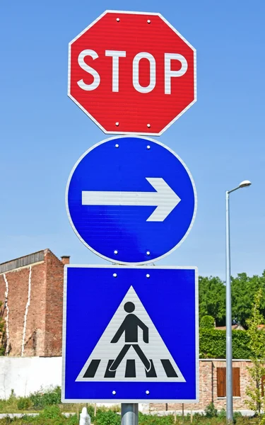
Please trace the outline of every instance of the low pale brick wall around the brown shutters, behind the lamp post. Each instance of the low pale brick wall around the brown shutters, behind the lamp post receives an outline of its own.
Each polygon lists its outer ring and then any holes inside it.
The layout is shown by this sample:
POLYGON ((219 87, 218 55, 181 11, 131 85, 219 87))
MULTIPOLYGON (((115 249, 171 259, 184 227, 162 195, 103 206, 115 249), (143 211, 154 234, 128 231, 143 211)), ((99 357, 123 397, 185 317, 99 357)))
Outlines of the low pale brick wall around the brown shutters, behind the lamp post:
MULTIPOLYGON (((199 361, 199 403, 185 403, 185 410, 201 410, 204 411, 206 406, 213 402, 216 409, 221 410, 226 406, 225 397, 217 396, 217 368, 225 368, 225 360, 200 360, 199 361)), ((249 374, 247 366, 251 365, 249 361, 232 362, 233 368, 240 368, 240 397, 233 397, 234 410, 246 410, 245 400, 247 399, 246 387, 248 385, 249 374)), ((182 410, 182 404, 165 403, 150 404, 151 411, 159 410, 182 410)))

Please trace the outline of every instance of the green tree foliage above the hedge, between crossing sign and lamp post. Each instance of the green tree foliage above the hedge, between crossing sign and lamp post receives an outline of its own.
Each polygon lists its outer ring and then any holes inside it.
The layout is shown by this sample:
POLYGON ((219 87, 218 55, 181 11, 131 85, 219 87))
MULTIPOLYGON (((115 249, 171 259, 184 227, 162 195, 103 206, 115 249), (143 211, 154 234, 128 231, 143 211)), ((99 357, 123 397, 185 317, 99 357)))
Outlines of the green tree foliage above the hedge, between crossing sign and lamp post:
POLYGON ((199 276, 199 319, 212 316, 216 325, 225 324, 225 285, 218 277, 199 276))

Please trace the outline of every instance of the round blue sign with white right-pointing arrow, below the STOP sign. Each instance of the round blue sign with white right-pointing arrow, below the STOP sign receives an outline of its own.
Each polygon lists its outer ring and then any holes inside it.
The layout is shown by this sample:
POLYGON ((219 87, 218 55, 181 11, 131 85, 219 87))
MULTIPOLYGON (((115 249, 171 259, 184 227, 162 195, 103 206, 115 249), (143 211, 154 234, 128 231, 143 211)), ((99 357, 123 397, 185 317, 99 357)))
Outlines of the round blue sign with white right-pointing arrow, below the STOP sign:
POLYGON ((73 230, 95 254, 146 264, 170 254, 196 215, 196 188, 175 152, 148 137, 112 137, 78 159, 66 187, 73 230))

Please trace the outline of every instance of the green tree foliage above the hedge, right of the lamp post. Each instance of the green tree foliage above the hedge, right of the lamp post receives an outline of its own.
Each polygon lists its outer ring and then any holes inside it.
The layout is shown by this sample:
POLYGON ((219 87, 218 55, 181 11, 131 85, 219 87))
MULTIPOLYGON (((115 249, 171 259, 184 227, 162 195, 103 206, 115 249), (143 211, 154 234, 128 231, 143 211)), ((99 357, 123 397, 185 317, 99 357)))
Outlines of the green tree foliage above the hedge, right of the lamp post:
POLYGON ((231 278, 231 288, 232 322, 247 327, 247 319, 252 315, 252 300, 259 289, 262 294, 259 310, 265 316, 265 271, 262 276, 252 277, 239 273, 236 278, 231 278))

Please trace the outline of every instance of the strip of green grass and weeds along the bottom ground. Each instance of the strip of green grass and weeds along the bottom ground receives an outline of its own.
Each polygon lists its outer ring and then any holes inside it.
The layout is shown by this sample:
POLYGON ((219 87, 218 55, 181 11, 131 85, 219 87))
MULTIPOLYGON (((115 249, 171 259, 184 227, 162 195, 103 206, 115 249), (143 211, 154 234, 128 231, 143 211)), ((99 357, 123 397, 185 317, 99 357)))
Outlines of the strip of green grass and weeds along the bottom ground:
MULTIPOLYGON (((14 393, 4 400, 0 399, 0 413, 23 413, 22 418, 6 417, 0 419, 2 424, 14 425, 77 425, 79 414, 84 406, 88 407, 91 421, 94 425, 119 425, 121 422, 120 406, 112 408, 97 407, 97 414, 94 416, 94 404, 71 404, 61 403, 61 388, 49 388, 30 394, 28 397, 16 397, 14 393), (62 412, 71 412, 73 415, 66 417, 62 412), (29 413, 38 413, 37 416, 27 416, 29 413)), ((195 407, 196 405, 194 405, 195 407)), ((264 416, 265 417, 265 416, 264 416)), ((204 414, 195 413, 192 418, 188 414, 184 416, 157 416, 139 413, 139 425, 225 425, 225 410, 220 412, 213 403, 208 404, 204 414)), ((249 418, 235 413, 234 424, 236 425, 259 425, 258 418, 249 418)))

